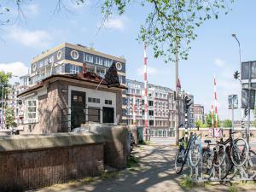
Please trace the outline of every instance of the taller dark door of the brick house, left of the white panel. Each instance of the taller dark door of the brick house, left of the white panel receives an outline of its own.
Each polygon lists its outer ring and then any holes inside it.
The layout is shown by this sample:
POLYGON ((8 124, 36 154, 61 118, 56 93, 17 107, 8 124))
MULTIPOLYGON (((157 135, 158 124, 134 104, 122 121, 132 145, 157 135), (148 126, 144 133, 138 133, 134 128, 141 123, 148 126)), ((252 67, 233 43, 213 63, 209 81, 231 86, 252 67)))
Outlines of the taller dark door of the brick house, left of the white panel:
POLYGON ((85 92, 71 91, 71 129, 85 123, 85 92))

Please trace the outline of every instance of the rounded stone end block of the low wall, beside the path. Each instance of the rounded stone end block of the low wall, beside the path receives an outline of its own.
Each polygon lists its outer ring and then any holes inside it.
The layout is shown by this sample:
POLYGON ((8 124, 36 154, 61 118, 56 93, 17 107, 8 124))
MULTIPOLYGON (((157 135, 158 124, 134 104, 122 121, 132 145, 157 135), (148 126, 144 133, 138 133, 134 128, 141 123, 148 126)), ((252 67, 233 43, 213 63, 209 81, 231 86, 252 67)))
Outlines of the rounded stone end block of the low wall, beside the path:
POLYGON ((104 164, 119 170, 125 169, 130 155, 130 136, 127 125, 89 123, 83 126, 88 131, 104 137, 104 164))

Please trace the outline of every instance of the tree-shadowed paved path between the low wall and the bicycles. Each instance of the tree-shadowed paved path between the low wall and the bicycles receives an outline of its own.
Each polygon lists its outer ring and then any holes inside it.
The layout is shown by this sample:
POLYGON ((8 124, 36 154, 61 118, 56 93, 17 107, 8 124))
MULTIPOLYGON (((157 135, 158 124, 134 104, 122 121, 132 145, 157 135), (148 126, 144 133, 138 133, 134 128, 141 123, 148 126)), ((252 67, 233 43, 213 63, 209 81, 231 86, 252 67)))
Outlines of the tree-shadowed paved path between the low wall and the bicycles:
MULTIPOLYGON (((174 171, 175 147, 153 143, 150 146, 136 148, 134 154, 140 158, 140 167, 136 171, 125 170, 119 172, 119 177, 108 179, 96 179, 91 183, 61 184, 45 189, 40 192, 177 192, 177 191, 229 191, 228 186, 216 185, 210 187, 196 187, 183 189, 181 187, 181 176, 174 171)), ((255 186, 255 185, 254 185, 255 186)), ((240 190, 238 190, 240 191, 240 190)), ((253 191, 253 190, 247 190, 253 191)))

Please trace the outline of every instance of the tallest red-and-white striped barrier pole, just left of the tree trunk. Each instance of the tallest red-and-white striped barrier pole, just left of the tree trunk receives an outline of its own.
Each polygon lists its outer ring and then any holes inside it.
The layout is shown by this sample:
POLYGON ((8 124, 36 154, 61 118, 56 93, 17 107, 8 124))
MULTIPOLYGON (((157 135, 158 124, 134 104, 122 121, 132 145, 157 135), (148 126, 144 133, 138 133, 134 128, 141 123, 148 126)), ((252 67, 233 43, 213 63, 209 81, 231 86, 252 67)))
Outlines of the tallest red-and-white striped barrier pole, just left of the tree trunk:
POLYGON ((143 132, 143 136, 148 140, 149 131, 148 131, 148 75, 147 75, 147 52, 146 52, 146 43, 144 43, 144 105, 145 105, 145 129, 143 132))

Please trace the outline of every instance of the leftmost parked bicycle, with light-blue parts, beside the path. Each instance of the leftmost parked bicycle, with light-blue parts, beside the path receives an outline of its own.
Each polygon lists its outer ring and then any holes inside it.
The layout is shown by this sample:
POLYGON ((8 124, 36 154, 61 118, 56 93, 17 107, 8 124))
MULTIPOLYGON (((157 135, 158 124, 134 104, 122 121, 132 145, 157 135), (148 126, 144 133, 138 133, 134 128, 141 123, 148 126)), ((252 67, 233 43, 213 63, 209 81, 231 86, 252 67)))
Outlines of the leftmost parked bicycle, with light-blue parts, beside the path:
POLYGON ((189 163, 191 166, 197 166, 201 157, 201 141, 198 139, 200 135, 191 134, 189 137, 189 142, 185 148, 184 137, 179 139, 179 148, 175 155, 175 170, 177 174, 183 171, 183 166, 187 162, 189 156, 189 163))

